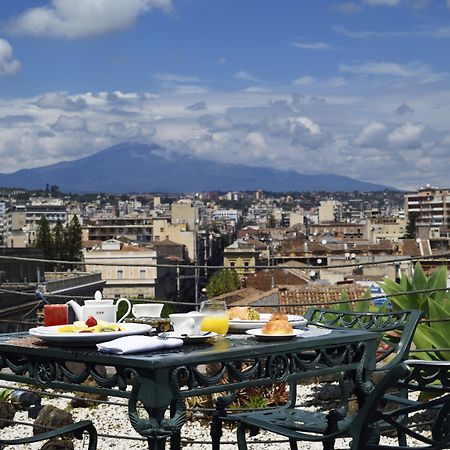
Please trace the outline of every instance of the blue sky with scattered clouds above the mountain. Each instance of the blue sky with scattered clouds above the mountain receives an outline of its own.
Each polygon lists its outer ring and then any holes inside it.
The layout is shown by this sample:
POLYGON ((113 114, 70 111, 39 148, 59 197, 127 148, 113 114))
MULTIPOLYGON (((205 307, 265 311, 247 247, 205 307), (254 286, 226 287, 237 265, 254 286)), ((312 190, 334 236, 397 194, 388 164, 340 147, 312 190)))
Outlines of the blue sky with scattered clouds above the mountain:
POLYGON ((0 172, 156 143, 450 187, 450 0, 2 0, 0 172))

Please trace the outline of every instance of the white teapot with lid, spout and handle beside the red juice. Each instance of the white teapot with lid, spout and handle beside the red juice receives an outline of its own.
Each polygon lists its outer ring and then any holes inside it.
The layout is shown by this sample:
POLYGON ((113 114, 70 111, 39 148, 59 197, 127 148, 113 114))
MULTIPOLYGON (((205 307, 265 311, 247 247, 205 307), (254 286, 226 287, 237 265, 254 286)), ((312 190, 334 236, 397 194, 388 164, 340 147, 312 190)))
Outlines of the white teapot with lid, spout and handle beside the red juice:
POLYGON ((131 312, 131 303, 127 298, 119 298, 117 303, 114 304, 114 300, 102 299, 102 293, 96 291, 94 300, 85 300, 84 306, 80 306, 76 301, 69 300, 67 302, 72 307, 77 320, 86 321, 89 316, 95 317, 97 320, 103 320, 105 322, 116 323, 122 322, 131 312), (125 302, 128 305, 126 313, 117 320, 117 309, 121 302, 125 302))

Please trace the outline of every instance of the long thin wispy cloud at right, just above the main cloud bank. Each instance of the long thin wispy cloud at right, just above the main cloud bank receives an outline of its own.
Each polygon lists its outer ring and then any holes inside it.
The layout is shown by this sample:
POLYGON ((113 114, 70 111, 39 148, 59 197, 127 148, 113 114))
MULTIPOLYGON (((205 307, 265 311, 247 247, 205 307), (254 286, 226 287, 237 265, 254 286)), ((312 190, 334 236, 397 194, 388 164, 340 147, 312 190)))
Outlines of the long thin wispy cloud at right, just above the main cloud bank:
POLYGON ((432 83, 447 75, 435 72, 430 66, 417 62, 399 64, 387 61, 373 61, 360 64, 340 64, 339 70, 357 75, 417 78, 421 83, 432 83))

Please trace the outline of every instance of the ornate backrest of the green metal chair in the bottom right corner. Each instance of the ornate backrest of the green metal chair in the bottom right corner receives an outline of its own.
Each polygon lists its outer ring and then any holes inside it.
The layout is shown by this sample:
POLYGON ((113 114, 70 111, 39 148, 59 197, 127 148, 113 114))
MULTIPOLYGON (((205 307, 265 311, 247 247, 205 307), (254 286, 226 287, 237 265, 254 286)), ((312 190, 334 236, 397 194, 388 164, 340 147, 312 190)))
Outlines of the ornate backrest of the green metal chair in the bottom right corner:
POLYGON ((450 362, 405 361, 387 372, 359 411, 351 426, 352 449, 450 448, 449 419, 450 362), (398 402, 386 407, 385 394, 391 388, 406 389, 416 396, 419 393, 419 400, 405 401, 397 397, 398 402), (428 398, 421 401, 420 394, 428 398), (406 438, 406 444, 380 444, 377 436, 383 430, 397 431, 406 438))

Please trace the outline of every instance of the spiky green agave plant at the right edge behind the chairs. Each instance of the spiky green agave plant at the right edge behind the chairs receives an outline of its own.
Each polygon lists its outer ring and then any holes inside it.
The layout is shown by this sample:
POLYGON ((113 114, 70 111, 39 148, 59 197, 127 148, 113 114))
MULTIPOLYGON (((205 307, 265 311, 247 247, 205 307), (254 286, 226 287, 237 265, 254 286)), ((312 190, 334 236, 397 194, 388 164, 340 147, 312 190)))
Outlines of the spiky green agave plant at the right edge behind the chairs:
POLYGON ((438 349, 450 347, 450 295, 447 288, 447 267, 442 266, 431 276, 427 276, 420 263, 414 268, 412 277, 402 274, 400 282, 385 279, 379 283, 390 297, 394 309, 418 309, 425 313, 414 334, 413 342, 417 349, 436 349, 435 351, 417 352, 419 359, 447 360, 449 353, 438 349), (417 292, 433 290, 434 292, 417 292), (403 294, 409 292, 408 294, 403 294))

